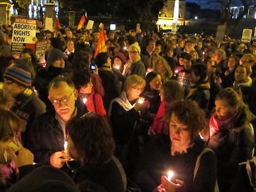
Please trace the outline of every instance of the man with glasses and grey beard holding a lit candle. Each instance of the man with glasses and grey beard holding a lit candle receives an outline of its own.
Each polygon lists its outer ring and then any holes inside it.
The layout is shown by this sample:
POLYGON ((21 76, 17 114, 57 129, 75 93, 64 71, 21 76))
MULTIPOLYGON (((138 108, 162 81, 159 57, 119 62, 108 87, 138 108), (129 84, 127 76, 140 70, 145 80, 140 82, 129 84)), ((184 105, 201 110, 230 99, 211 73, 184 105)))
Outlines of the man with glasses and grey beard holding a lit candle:
POLYGON ((54 111, 48 111, 35 120, 30 130, 28 148, 35 162, 61 168, 69 156, 64 152, 67 139, 66 124, 73 117, 85 114, 87 108, 78 98, 73 81, 69 77, 54 78, 48 86, 48 99, 54 111))

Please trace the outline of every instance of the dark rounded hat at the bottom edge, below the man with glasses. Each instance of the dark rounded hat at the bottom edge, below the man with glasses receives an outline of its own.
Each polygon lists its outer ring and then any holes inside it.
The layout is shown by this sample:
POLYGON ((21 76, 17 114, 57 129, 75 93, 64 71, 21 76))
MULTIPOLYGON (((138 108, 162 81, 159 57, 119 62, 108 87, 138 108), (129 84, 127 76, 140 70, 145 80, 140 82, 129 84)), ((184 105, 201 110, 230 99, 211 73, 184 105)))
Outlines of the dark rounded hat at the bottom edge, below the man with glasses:
POLYGON ((9 192, 78 192, 72 178, 60 169, 42 166, 12 185, 9 192))

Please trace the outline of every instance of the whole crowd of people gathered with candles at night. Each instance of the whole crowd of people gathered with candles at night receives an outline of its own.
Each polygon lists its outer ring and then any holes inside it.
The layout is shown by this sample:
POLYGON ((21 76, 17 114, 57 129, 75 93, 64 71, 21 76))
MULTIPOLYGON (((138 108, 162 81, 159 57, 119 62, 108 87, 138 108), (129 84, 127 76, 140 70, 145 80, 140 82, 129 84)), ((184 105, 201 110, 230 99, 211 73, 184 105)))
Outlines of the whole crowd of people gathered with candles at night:
POLYGON ((13 54, 11 34, 0 31, 1 190, 229 192, 248 177, 255 41, 117 30, 93 57, 100 31, 58 28, 36 33, 41 62, 13 54))

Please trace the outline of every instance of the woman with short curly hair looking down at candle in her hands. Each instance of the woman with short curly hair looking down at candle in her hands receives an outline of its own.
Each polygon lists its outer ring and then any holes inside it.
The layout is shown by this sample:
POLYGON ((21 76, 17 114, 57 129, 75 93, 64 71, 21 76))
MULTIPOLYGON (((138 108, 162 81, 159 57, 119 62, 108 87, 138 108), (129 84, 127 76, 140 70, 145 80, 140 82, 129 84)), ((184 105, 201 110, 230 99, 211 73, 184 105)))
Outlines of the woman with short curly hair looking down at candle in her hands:
POLYGON ((216 157, 199 136, 207 126, 204 117, 203 110, 191 100, 176 101, 166 111, 169 135, 151 138, 142 155, 137 175, 142 191, 156 187, 161 192, 215 191, 216 157), (163 176, 169 170, 172 178, 163 176))

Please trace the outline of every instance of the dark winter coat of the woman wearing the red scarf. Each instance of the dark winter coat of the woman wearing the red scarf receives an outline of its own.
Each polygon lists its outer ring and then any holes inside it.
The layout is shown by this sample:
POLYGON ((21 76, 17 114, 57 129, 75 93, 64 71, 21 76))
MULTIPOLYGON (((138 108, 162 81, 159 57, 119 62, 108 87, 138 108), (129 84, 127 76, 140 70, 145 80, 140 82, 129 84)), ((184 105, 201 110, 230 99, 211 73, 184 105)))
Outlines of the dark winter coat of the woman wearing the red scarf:
MULTIPOLYGON (((220 191, 228 191, 237 174, 239 162, 252 158, 254 132, 249 125, 247 107, 239 109, 234 120, 224 125, 207 142, 218 161, 218 184, 220 191)), ((211 128, 211 123, 209 124, 211 128)))

